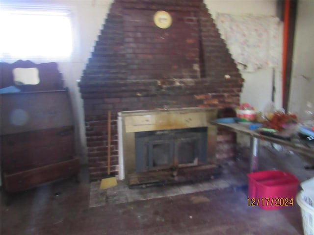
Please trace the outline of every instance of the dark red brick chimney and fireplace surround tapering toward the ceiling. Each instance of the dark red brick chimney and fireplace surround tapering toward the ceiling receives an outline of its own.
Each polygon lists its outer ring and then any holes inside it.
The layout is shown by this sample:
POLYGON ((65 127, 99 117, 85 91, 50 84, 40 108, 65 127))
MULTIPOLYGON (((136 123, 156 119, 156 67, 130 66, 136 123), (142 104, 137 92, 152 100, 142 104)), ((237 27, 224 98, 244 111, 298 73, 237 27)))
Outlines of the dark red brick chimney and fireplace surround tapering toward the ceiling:
MULTIPOLYGON (((108 110, 110 171, 117 173, 119 112, 235 107, 242 82, 203 1, 114 1, 78 83, 91 180, 107 172, 108 110), (169 28, 154 24, 159 10, 171 15, 169 28)), ((234 148, 234 136, 218 130, 216 161, 233 158, 234 148)))

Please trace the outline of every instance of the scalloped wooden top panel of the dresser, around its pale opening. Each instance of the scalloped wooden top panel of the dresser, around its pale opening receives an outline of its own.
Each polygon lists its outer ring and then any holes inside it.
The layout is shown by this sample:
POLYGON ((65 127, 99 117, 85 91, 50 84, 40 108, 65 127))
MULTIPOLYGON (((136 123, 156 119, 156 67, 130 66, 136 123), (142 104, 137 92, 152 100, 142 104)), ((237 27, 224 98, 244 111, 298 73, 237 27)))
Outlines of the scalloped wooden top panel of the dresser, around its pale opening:
POLYGON ((18 60, 12 64, 0 63, 0 88, 15 86, 21 92, 41 92, 64 89, 62 74, 58 71, 57 63, 35 64, 29 60, 18 60), (36 85, 17 85, 14 82, 13 70, 15 68, 36 68, 40 82, 36 85))

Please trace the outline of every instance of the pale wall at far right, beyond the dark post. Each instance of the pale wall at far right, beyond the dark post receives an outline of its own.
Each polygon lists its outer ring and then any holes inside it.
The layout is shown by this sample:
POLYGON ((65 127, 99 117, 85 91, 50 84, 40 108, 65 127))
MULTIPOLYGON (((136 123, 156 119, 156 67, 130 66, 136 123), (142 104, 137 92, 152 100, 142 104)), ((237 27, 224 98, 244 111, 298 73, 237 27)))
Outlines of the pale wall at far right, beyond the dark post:
POLYGON ((314 1, 298 2, 289 111, 302 118, 306 101, 314 105, 314 1))

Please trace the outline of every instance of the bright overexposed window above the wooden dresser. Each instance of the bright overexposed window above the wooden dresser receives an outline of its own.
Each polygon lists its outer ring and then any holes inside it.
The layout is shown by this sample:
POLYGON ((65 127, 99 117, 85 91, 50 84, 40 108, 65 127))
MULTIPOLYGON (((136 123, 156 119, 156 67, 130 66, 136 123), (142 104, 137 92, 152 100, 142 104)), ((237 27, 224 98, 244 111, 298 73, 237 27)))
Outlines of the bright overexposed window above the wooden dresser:
POLYGON ((2 7, 0 58, 68 59, 73 50, 70 12, 56 8, 2 7))

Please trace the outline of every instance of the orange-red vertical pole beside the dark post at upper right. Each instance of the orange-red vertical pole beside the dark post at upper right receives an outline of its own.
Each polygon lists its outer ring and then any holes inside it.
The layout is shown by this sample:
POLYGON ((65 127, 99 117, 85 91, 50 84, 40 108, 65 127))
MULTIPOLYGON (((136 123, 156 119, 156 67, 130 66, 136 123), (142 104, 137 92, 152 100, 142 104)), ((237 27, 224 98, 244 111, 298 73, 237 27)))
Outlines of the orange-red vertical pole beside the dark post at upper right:
POLYGON ((285 85, 286 85, 286 72, 287 72, 287 50, 288 50, 288 32, 289 32, 289 13, 290 13, 290 0, 285 0, 284 5, 284 35, 283 35, 283 84, 282 84, 282 99, 285 100, 285 85))

